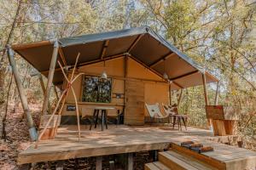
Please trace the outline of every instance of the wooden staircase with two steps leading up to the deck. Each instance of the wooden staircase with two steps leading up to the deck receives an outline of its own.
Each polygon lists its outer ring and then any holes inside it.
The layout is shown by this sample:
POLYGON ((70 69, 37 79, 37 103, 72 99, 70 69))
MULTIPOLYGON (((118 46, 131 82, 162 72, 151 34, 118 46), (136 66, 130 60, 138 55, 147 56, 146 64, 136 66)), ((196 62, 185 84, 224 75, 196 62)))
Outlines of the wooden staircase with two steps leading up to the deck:
POLYGON ((189 156, 183 156, 176 151, 159 152, 159 161, 145 164, 145 170, 211 170, 217 169, 189 156))

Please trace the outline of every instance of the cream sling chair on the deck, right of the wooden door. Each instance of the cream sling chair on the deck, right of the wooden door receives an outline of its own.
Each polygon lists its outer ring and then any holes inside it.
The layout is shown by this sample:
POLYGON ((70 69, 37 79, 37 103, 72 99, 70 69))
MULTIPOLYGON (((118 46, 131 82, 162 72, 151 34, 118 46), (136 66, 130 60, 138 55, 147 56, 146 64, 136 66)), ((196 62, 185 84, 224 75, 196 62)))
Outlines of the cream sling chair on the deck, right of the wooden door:
POLYGON ((160 107, 159 107, 159 104, 156 103, 154 105, 148 105, 148 104, 145 104, 146 105, 146 108, 147 108, 147 111, 148 111, 148 114, 150 116, 150 122, 154 122, 154 120, 163 120, 163 119, 166 119, 167 117, 169 117, 169 115, 163 115, 160 111, 160 107))

